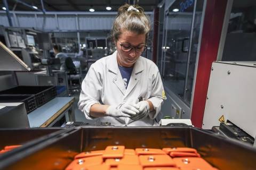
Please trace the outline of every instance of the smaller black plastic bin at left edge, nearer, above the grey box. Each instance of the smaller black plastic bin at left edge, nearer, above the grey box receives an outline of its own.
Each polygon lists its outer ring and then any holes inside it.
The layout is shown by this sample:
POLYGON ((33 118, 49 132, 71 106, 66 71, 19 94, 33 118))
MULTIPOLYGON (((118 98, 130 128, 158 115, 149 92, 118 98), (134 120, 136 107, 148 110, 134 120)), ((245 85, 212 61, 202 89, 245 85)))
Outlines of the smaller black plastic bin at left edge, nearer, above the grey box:
POLYGON ((0 103, 25 103, 27 113, 37 108, 35 95, 0 95, 0 103))

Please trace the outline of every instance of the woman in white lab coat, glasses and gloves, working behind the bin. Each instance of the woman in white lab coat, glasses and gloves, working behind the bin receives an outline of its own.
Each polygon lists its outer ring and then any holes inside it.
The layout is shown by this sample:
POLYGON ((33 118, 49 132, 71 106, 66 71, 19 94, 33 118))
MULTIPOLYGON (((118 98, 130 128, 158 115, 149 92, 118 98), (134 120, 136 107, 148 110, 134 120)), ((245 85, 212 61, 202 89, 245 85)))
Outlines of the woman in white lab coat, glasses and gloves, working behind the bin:
POLYGON ((149 31, 142 7, 119 7, 111 32, 117 50, 91 65, 78 102, 96 125, 158 125, 155 117, 166 99, 161 75, 155 63, 140 56, 149 31))

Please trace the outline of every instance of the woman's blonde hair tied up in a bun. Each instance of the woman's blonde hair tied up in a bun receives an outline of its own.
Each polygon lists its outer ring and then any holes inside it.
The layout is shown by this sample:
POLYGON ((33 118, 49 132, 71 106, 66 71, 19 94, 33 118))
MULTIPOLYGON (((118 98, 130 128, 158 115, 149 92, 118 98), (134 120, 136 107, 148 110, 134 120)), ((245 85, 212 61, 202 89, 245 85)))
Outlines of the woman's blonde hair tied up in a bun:
MULTIPOLYGON (((121 35, 121 29, 146 35, 146 42, 150 31, 150 20, 142 7, 132 5, 133 10, 128 10, 131 5, 125 4, 118 8, 118 14, 113 23, 111 35, 118 40, 121 35)), ((145 43, 146 43, 145 42, 145 43)))

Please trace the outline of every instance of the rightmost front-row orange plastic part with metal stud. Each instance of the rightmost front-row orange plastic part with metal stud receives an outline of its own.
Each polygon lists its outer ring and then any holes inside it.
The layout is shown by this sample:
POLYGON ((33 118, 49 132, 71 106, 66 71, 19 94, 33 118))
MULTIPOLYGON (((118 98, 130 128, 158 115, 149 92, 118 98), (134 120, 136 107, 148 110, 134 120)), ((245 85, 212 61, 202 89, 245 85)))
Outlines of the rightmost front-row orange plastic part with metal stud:
POLYGON ((183 157, 173 158, 174 163, 180 168, 212 169, 212 166, 202 158, 183 157))

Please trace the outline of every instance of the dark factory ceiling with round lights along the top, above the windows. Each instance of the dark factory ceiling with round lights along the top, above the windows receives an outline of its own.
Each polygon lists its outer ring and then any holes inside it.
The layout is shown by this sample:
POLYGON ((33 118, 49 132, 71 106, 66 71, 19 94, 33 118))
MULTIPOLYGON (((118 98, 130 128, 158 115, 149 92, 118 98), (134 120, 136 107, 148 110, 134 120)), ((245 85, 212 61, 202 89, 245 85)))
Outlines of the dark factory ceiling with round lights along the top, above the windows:
MULTIPOLYGON (((41 1, 46 12, 89 12, 90 8, 94 8, 95 12, 106 12, 106 7, 111 6, 110 11, 116 12, 118 7, 128 4, 138 4, 144 8, 145 11, 153 11, 161 0, 5 0, 9 5, 10 11, 43 11, 41 1), (30 5, 27 6, 27 5, 30 5), (36 6, 38 10, 32 8, 36 6)), ((1 10, 4 6, 4 0, 0 1, 1 10)))

